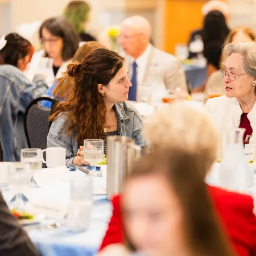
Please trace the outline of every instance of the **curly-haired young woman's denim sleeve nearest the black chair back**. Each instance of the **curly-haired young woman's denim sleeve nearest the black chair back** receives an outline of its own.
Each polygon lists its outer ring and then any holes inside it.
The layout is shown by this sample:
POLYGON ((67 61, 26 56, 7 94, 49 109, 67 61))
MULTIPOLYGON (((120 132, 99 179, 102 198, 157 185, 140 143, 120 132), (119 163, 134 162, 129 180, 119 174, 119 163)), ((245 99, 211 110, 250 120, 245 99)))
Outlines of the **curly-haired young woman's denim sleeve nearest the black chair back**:
POLYGON ((75 154, 72 134, 68 136, 68 117, 65 114, 61 114, 52 122, 47 137, 47 147, 64 147, 66 149, 66 164, 71 166, 75 154))

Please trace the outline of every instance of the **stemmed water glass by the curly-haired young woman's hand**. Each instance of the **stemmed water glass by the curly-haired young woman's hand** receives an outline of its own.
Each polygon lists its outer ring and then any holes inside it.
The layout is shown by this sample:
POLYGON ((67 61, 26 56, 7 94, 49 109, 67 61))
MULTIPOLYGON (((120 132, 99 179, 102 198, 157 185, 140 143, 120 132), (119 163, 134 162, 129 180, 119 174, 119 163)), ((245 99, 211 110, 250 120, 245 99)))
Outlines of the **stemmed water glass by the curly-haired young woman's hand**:
POLYGON ((84 140, 84 160, 92 166, 92 176, 101 176, 96 171, 96 164, 102 162, 104 153, 103 139, 84 140))

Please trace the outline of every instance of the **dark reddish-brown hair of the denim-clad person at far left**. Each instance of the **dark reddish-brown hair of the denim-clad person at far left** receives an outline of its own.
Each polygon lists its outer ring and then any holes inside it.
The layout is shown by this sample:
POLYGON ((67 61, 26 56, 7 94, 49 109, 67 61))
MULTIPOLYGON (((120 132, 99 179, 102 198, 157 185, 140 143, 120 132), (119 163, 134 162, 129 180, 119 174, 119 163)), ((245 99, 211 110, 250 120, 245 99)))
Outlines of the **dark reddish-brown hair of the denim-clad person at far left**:
MULTIPOLYGON (((34 47, 27 40, 17 33, 5 36, 6 46, 0 50, 0 64, 9 64, 18 67, 18 61, 30 55, 30 60, 34 54, 34 47)), ((29 61, 30 61, 29 60, 29 61)))

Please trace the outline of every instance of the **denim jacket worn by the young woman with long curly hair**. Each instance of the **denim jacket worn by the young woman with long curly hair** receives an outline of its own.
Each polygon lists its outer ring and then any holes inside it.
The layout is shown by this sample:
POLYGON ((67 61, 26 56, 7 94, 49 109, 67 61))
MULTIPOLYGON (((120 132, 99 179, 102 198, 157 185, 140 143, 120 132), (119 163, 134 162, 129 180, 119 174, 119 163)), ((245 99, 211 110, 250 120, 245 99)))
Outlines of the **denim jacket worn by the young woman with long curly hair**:
MULTIPOLYGON (((118 131, 121 136, 133 138, 135 144, 144 146, 142 138, 143 123, 137 109, 129 102, 115 103, 115 114, 117 115, 118 131)), ((47 138, 47 147, 66 148, 66 164, 71 166, 73 158, 77 154, 79 146, 75 132, 71 132, 68 137, 67 114, 61 113, 55 121, 52 122, 47 138)), ((86 139, 86 138, 85 138, 86 139)))

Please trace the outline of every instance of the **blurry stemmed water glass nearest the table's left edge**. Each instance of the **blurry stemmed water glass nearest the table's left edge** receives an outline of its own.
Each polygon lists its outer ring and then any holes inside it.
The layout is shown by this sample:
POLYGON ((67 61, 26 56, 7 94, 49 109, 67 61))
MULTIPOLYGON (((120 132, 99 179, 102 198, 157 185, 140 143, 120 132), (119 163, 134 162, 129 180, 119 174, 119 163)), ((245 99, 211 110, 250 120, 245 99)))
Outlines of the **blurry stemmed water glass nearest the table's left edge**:
POLYGON ((13 192, 10 207, 24 210, 27 201, 24 190, 30 185, 30 169, 27 163, 14 162, 14 168, 8 172, 8 184, 13 192))

